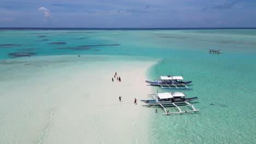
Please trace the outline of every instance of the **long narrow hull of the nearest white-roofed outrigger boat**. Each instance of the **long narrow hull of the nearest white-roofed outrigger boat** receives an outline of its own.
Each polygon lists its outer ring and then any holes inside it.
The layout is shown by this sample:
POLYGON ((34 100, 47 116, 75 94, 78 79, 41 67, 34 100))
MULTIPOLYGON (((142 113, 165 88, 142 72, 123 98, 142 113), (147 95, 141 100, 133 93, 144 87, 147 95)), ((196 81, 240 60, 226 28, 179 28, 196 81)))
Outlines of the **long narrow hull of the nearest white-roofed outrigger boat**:
POLYGON ((161 105, 170 105, 172 103, 181 103, 184 101, 190 102, 193 100, 198 99, 197 97, 193 97, 193 98, 186 98, 186 99, 182 99, 182 100, 176 100, 176 101, 171 101, 171 100, 141 100, 143 103, 146 103, 148 105, 156 105, 156 104, 161 104, 161 105))

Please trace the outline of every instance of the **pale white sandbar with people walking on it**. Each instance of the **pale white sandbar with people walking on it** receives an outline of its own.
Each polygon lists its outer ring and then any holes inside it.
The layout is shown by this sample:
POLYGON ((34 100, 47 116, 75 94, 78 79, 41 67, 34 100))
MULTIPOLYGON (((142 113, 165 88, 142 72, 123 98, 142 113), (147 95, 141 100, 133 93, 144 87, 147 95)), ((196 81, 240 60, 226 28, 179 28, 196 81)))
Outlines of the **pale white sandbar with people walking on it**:
POLYGON ((152 92, 144 80, 156 62, 46 59, 10 60, 20 73, 10 64, 7 77, 15 81, 0 83, 2 143, 147 143, 152 109, 139 100, 152 92), (115 71, 121 82, 112 82, 115 71))

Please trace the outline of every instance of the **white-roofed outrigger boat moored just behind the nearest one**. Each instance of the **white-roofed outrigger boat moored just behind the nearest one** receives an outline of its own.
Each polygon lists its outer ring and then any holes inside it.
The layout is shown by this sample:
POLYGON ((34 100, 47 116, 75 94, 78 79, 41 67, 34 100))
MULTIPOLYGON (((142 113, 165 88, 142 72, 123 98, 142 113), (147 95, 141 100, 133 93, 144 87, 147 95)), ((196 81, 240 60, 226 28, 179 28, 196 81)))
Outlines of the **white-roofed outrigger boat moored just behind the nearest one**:
POLYGON ((149 85, 152 86, 160 86, 162 89, 192 89, 188 88, 187 85, 191 83, 192 81, 182 81, 183 76, 159 76, 160 79, 155 79, 155 81, 147 81, 149 85), (178 86, 184 86, 186 88, 178 88, 178 86), (164 88, 164 87, 169 87, 169 88, 164 88), (176 87, 176 88, 171 88, 171 87, 176 87))

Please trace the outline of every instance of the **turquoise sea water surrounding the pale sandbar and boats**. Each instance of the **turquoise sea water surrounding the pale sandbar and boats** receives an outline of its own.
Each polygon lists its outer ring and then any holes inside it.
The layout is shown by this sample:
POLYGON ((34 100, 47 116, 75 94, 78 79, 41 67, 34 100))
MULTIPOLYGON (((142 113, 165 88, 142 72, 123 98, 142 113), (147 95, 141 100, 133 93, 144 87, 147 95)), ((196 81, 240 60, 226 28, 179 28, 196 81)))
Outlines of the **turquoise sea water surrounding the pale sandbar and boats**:
MULTIPOLYGON (((11 79, 6 75, 13 63, 7 59, 15 61, 20 55, 31 55, 31 59, 49 55, 161 59, 148 70, 149 79, 172 74, 193 80, 189 86, 193 90, 185 94, 199 98, 193 104, 200 112, 164 116, 152 109, 148 141, 256 143, 256 29, 2 29, 0 83, 11 79), (210 49, 223 53, 207 53, 210 49)), ((3 103, 1 95, 0 99, 3 103)), ((0 112, 1 117, 8 117, 7 113, 0 112)))

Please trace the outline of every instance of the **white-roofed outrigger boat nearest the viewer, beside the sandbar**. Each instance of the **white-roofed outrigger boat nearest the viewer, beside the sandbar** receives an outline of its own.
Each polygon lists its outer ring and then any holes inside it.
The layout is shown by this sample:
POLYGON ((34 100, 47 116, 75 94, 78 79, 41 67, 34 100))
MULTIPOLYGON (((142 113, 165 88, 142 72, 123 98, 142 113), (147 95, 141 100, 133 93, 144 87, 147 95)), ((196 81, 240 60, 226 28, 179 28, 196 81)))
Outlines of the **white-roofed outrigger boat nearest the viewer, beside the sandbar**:
POLYGON ((169 92, 169 93, 154 93, 152 95, 152 100, 141 100, 143 103, 146 103, 150 106, 161 106, 165 113, 164 115, 177 114, 177 113, 187 113, 187 112, 196 112, 197 110, 193 105, 190 104, 190 101, 196 100, 197 97, 185 98, 186 95, 182 92, 169 92), (169 112, 166 110, 166 107, 176 108, 176 112, 169 112), (182 111, 181 107, 189 107, 190 110, 182 111))

